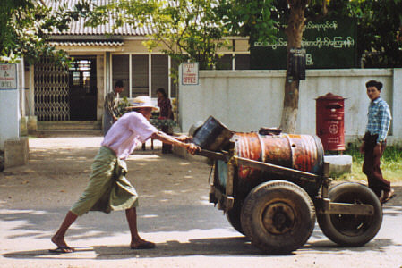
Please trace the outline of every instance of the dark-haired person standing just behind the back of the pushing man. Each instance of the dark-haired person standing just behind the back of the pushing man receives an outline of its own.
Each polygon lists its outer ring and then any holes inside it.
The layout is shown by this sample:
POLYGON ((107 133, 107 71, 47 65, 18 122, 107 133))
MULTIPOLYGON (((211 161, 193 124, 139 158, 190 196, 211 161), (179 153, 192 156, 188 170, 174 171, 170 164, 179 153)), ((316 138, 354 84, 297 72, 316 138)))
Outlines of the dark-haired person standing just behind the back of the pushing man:
POLYGON ((107 93, 105 97, 104 114, 103 114, 103 136, 106 136, 107 131, 113 125, 118 118, 118 98, 119 94, 124 91, 124 84, 122 80, 115 82, 115 89, 112 92, 107 93), (117 100, 117 101, 116 101, 117 100))

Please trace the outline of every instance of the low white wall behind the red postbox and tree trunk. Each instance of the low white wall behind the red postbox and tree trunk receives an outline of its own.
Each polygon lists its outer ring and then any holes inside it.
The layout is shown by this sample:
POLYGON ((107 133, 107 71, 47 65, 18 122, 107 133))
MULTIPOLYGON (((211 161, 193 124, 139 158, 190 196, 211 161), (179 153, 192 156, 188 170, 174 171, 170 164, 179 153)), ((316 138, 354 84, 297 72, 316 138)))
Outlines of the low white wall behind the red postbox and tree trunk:
MULTIPOLYGON (((278 127, 283 107, 285 71, 200 71, 197 86, 179 87, 179 121, 183 132, 210 115, 230 130, 278 127)), ((332 94, 345 100, 346 142, 364 135, 367 121, 365 83, 380 80, 381 97, 391 109, 389 142, 402 142, 402 69, 307 70, 300 81, 297 133, 315 135, 315 99, 332 94)))

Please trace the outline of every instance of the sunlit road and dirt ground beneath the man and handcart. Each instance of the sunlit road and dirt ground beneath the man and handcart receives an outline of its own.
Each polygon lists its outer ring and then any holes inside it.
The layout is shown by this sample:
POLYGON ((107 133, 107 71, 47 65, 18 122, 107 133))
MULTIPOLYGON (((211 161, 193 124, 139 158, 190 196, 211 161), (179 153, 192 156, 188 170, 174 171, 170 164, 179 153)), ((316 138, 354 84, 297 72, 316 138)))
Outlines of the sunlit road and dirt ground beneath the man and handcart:
POLYGON ((402 267, 402 188, 384 206, 380 232, 365 247, 338 247, 318 226, 291 255, 261 255, 208 202, 210 167, 155 151, 127 161, 141 196, 141 236, 131 250, 123 212, 82 216, 67 233, 77 249, 52 255, 50 237, 81 195, 100 138, 30 139, 30 163, 0 173, 1 267, 402 267))

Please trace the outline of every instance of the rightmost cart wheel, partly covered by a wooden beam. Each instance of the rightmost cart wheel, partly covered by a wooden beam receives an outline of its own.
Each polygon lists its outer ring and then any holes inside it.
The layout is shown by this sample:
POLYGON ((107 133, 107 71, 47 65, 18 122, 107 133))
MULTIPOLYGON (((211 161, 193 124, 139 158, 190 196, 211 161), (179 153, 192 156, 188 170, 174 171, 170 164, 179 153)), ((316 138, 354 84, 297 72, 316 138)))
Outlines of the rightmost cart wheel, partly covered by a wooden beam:
POLYGON ((373 215, 318 214, 322 232, 340 246, 360 247, 369 242, 380 230, 382 208, 379 198, 370 188, 359 183, 345 182, 329 190, 331 202, 370 204, 373 215))

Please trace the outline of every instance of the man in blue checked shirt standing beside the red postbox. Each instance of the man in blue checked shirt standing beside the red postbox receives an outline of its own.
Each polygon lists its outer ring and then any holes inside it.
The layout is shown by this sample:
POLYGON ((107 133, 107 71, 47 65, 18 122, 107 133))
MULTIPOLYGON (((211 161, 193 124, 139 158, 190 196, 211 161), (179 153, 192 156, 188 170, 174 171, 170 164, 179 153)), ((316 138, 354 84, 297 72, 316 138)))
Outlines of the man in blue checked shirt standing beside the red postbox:
POLYGON ((380 198, 381 204, 395 197, 390 182, 382 177, 380 159, 387 145, 389 123, 392 119, 389 105, 381 98, 382 83, 370 80, 365 84, 369 105, 368 121, 360 151, 364 154, 363 172, 367 176, 369 188, 380 198))

